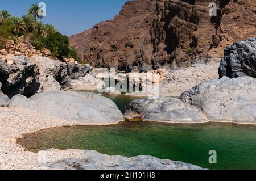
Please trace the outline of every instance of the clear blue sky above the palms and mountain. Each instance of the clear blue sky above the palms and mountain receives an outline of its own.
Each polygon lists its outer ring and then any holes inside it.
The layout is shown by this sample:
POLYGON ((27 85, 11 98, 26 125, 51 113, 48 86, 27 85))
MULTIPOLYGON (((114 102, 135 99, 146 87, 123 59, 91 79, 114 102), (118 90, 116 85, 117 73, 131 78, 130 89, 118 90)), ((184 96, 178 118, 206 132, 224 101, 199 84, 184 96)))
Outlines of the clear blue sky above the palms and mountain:
POLYGON ((33 3, 46 3, 44 23, 53 24, 67 36, 92 28, 103 20, 113 19, 127 0, 1 0, 0 10, 22 16, 33 3), (4 1, 4 2, 3 2, 4 1))

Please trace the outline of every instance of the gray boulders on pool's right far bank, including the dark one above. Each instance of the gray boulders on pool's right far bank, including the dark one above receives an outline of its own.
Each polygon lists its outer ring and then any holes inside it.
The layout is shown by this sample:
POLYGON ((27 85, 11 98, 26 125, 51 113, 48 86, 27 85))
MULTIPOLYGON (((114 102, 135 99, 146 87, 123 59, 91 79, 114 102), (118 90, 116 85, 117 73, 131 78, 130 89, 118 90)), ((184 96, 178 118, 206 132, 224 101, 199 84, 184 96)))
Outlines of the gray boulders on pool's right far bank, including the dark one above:
POLYGON ((220 79, 201 82, 179 99, 138 99, 126 107, 126 120, 167 123, 256 124, 256 39, 225 49, 220 79), (226 77, 228 76, 228 77, 226 77))

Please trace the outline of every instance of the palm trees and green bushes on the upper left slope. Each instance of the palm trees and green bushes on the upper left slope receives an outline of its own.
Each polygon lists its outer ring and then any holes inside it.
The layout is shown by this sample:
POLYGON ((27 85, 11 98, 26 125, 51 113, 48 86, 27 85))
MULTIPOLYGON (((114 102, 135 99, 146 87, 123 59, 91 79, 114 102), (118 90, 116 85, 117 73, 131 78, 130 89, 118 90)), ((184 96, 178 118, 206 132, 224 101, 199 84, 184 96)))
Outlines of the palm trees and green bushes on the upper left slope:
POLYGON ((61 35, 52 24, 44 24, 39 14, 39 6, 34 4, 22 18, 12 16, 7 10, 0 12, 0 49, 5 48, 7 40, 24 36, 38 50, 47 48, 53 56, 74 58, 80 61, 76 49, 69 46, 68 37, 61 35))

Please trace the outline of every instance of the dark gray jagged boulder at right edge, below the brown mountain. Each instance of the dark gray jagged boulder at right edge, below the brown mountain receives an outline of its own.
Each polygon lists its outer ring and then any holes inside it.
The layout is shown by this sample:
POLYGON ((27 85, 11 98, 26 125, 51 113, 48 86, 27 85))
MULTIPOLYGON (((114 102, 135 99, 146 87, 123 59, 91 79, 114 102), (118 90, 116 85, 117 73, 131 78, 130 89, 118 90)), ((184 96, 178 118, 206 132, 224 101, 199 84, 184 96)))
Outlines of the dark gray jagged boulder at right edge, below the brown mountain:
POLYGON ((220 78, 224 76, 256 78, 256 39, 238 41, 226 47, 218 73, 220 78))

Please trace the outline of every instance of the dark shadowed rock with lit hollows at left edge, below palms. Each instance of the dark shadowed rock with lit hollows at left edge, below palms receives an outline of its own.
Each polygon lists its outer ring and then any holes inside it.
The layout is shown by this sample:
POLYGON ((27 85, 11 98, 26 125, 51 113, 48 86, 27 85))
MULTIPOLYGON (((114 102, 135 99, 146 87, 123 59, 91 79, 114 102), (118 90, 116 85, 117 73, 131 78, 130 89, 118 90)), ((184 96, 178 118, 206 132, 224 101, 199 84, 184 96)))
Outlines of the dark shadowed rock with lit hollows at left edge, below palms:
POLYGON ((38 66, 25 56, 14 56, 13 62, 7 65, 0 60, 1 91, 9 98, 16 94, 34 95, 39 87, 38 66))

